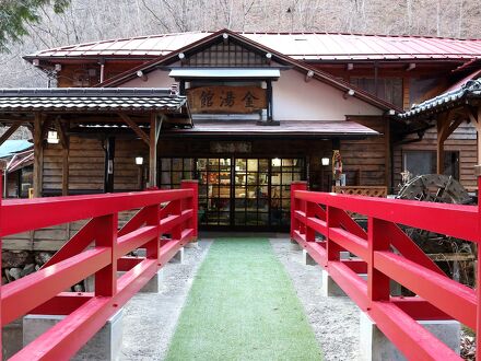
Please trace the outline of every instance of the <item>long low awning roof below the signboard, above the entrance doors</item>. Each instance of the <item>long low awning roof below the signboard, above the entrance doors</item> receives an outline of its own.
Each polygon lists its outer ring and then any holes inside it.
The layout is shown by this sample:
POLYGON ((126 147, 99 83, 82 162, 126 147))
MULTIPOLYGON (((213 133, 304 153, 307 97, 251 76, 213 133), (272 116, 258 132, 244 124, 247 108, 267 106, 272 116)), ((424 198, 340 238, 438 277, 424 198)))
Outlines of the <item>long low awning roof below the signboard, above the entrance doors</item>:
POLYGON ((197 120, 193 128, 166 129, 162 136, 365 138, 379 132, 348 120, 281 120, 279 126, 260 126, 254 120, 197 120))

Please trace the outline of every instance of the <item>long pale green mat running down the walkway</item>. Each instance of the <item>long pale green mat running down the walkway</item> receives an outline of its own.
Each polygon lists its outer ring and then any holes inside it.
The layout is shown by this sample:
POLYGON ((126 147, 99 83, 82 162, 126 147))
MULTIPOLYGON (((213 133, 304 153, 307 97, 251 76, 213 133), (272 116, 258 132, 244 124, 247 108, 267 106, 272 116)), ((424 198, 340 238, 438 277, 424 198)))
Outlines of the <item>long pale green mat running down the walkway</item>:
POLYGON ((321 358, 268 240, 216 240, 193 280, 167 360, 321 358))

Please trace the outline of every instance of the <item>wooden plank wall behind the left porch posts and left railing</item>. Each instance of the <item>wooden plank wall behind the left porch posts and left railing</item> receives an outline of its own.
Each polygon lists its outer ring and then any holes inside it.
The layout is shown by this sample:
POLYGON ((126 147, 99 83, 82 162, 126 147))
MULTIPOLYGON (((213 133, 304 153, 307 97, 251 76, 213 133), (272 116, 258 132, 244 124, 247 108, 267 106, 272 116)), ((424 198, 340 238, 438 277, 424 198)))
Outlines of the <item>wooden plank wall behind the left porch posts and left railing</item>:
MULTIPOLYGON (((69 194, 95 194, 104 191, 105 152, 98 138, 70 137, 69 194)), ((114 160, 116 191, 139 190, 139 167, 134 156, 144 155, 149 161, 146 144, 140 140, 118 139, 114 160)), ((59 196, 62 191, 63 151, 60 144, 46 144, 43 155, 43 194, 59 196)), ((148 166, 148 165, 146 165, 148 166)), ((133 211, 119 214, 121 226, 133 211)), ((58 251, 86 220, 69 224, 15 234, 3 238, 4 251, 58 251)))

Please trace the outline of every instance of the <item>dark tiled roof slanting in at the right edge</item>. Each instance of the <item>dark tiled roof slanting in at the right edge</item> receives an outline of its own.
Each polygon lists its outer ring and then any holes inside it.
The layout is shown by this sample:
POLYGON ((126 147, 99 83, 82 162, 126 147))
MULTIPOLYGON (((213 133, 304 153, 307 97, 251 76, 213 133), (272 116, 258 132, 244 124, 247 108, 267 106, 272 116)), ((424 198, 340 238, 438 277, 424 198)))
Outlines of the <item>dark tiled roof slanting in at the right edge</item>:
POLYGON ((412 106, 410 110, 399 114, 398 117, 401 119, 410 119, 418 116, 441 113, 444 109, 457 106, 473 97, 481 97, 481 80, 469 80, 460 88, 412 106))

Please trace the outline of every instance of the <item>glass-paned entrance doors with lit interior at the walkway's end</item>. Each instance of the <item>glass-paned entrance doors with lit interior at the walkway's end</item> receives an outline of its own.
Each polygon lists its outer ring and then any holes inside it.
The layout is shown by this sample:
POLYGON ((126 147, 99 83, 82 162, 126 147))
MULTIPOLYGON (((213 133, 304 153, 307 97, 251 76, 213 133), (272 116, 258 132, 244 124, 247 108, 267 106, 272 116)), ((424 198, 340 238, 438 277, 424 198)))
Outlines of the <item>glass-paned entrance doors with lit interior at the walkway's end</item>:
POLYGON ((291 182, 305 179, 297 158, 162 159, 161 187, 199 180, 199 225, 203 229, 285 230, 291 182))

